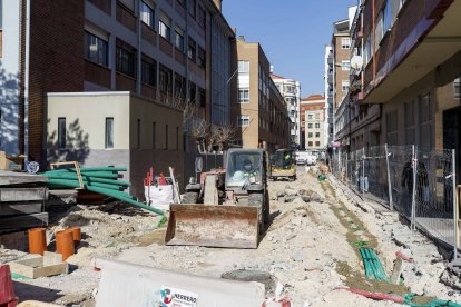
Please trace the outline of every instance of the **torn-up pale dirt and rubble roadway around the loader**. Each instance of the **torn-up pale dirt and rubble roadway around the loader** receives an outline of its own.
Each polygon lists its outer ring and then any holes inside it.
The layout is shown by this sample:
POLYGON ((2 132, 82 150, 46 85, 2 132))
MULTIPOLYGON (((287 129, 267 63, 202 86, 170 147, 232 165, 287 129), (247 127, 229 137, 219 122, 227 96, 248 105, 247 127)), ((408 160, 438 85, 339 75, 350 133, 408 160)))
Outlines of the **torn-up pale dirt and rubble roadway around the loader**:
POLYGON ((272 224, 259 247, 246 250, 165 246, 165 229, 155 229, 157 217, 138 216, 137 211, 127 215, 130 210, 125 206, 73 207, 70 218, 67 215, 61 220, 61 225, 80 225, 86 235, 84 247, 69 259, 76 266, 73 271, 21 280, 17 295, 65 306, 94 306, 100 275, 89 263, 92 257, 108 257, 215 277, 247 270, 264 276, 268 297, 277 283, 283 285, 292 306, 400 305, 337 287, 400 296, 415 293, 423 295, 419 301, 434 297, 461 300, 459 293, 440 281, 445 269, 437 248, 395 214, 370 204, 356 206, 335 182, 320 182, 316 169, 306 172, 298 168, 298 179, 293 182, 271 181, 269 192, 272 224), (376 251, 388 276, 396 251, 414 263, 404 263, 400 285, 370 280, 364 275, 361 247, 376 251))

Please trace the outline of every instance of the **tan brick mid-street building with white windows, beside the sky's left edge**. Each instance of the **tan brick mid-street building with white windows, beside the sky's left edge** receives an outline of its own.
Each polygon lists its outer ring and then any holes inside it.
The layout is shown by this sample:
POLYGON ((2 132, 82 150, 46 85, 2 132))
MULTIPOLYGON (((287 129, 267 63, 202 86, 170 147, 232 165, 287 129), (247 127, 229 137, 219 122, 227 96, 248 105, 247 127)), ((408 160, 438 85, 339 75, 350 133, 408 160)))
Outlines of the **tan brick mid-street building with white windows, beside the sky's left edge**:
POLYGON ((238 76, 233 118, 237 143, 274 151, 290 145, 286 103, 271 79, 269 62, 257 42, 237 39, 238 76))

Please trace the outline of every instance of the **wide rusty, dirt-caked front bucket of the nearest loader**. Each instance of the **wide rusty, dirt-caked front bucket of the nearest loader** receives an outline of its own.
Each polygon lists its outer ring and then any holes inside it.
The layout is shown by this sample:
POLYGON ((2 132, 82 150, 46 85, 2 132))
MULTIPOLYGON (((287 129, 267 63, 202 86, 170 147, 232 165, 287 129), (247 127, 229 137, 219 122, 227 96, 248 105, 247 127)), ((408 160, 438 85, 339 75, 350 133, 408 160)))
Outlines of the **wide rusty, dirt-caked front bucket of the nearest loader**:
POLYGON ((256 207, 170 205, 166 245, 257 248, 256 207))

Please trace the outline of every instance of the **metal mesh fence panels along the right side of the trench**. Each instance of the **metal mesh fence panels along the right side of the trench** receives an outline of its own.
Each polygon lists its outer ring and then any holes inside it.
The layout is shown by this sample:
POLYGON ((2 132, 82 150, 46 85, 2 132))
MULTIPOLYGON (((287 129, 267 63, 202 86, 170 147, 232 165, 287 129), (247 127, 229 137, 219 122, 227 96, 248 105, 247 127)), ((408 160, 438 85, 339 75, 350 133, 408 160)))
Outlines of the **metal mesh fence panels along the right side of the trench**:
POLYGON ((384 145, 337 157, 334 175, 362 198, 398 210, 413 229, 458 247, 454 150, 384 145))

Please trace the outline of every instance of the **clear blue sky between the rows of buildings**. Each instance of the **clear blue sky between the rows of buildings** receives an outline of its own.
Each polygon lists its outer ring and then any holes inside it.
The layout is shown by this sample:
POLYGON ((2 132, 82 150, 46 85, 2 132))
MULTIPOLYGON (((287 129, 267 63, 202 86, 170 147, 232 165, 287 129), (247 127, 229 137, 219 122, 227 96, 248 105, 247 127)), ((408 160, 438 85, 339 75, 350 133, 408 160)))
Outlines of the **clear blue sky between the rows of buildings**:
POLYGON ((356 0, 223 0, 237 37, 259 42, 274 73, 301 82, 302 98, 324 93, 325 46, 333 22, 356 0))

